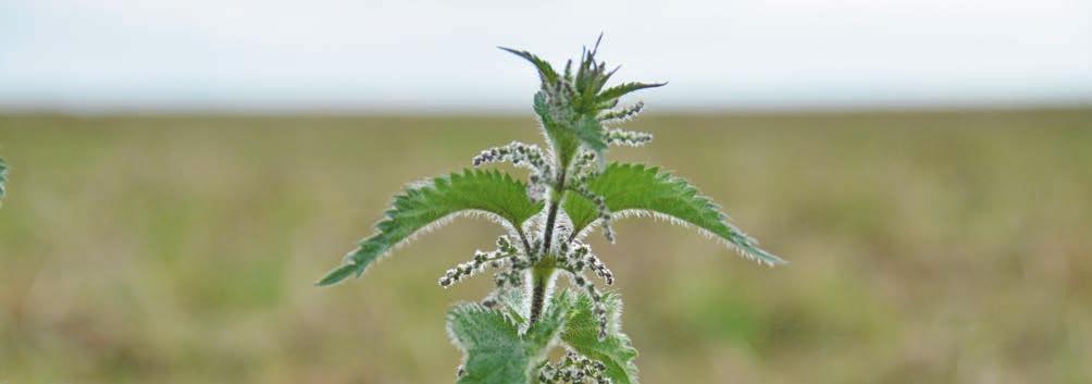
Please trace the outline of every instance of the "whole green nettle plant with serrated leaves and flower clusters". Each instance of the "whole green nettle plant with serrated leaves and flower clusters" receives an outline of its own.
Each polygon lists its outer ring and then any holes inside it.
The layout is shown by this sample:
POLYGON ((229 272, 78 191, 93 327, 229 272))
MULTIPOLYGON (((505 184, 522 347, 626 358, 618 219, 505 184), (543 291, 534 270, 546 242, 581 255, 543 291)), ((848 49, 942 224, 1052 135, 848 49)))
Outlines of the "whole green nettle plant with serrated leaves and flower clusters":
POLYGON ((612 145, 652 141, 651 134, 617 128, 644 108, 624 106, 620 98, 664 83, 608 86, 617 68, 596 61, 597 48, 598 41, 561 71, 531 52, 501 48, 538 72, 534 112, 545 145, 488 148, 471 159, 472 169, 407 187, 376 232, 318 285, 359 277, 397 245, 453 218, 485 217, 503 229, 495 248, 474 252, 438 278, 448 288, 488 271, 495 283, 480 302, 448 312, 448 334, 464 352, 456 382, 631 384, 638 382, 637 350, 621 332, 620 297, 604 288, 616 276, 584 241, 590 232, 600 228, 614 242, 615 220, 653 216, 695 227, 759 263, 784 263, 687 181, 656 167, 605 161, 612 145), (496 163, 527 169, 526 182, 483 169, 496 163), (558 276, 569 284, 556 289, 558 276), (549 358, 555 347, 566 351, 556 361, 549 358))

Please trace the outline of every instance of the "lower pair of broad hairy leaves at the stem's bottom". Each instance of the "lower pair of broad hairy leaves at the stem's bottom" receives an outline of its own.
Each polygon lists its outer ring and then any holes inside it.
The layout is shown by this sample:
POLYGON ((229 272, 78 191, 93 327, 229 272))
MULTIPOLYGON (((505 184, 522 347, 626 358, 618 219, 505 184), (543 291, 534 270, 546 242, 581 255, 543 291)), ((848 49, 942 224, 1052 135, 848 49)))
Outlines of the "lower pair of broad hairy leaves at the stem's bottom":
MULTIPOLYGON (((597 338, 597 323, 592 299, 586 295, 573 298, 568 291, 554 297, 538 322, 521 334, 519 319, 508 313, 519 312, 506 302, 509 312, 479 304, 460 304, 448 312, 448 333, 452 343, 464 353, 463 373, 459 384, 533 383, 536 370, 547 358, 549 347, 560 340, 569 348, 607 365, 606 375, 617 384, 637 383, 637 350, 620 332, 617 316, 621 300, 605 298, 612 319, 612 332, 605 340, 597 338)), ((518 304, 517 304, 518 305, 518 304)), ((517 315, 518 316, 518 315, 517 315)))

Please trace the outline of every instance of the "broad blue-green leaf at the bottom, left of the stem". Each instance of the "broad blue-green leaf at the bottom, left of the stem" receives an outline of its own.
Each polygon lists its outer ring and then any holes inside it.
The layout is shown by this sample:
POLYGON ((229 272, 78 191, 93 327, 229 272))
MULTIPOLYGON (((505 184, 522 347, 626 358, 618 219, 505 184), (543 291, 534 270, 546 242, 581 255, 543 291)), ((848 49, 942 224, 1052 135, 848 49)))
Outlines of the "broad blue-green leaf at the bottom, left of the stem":
POLYGON ((448 312, 448 334, 465 353, 459 384, 529 383, 531 357, 519 327, 503 313, 478 304, 456 305, 448 312))

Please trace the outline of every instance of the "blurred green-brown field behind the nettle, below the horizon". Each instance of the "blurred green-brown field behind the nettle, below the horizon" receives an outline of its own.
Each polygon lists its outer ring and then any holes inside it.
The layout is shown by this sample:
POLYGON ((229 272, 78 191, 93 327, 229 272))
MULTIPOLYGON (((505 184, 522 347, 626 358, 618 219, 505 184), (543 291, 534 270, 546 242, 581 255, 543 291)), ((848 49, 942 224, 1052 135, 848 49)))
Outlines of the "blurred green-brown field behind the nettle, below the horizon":
MULTIPOLYGON (((311 283, 402 184, 530 118, 0 116, 0 383, 450 383, 464 219, 311 283)), ((643 382, 1092 383, 1092 109, 650 116, 675 169, 792 261, 652 219, 593 243, 643 382)), ((522 175, 522 172, 521 172, 522 175)))

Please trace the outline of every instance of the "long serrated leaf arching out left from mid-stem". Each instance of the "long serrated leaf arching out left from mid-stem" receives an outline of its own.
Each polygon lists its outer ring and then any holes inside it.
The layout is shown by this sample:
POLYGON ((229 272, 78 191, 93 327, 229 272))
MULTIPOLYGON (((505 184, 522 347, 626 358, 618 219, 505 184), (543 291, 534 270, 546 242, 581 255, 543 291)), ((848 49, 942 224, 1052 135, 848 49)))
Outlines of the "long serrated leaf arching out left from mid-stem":
POLYGON ((345 256, 345 265, 318 281, 336 284, 349 275, 357 277, 373 261, 422 230, 442 225, 459 215, 480 214, 506 226, 519 228, 542 211, 527 199, 526 185, 497 170, 465 170, 407 188, 394 196, 387 217, 376 225, 376 233, 345 256))

